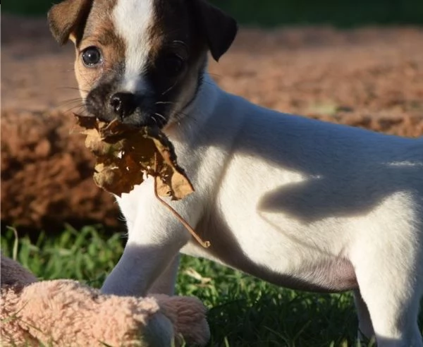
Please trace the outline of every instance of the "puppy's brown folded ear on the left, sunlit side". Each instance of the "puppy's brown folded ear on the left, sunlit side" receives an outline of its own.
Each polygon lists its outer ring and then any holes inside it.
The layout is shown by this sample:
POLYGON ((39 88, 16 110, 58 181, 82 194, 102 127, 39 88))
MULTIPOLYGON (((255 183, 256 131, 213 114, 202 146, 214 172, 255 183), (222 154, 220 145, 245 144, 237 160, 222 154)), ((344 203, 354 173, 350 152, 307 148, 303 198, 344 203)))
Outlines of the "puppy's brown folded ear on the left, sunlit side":
POLYGON ((54 5, 47 18, 51 34, 59 44, 66 44, 71 38, 75 43, 84 31, 93 0, 65 0, 54 5))

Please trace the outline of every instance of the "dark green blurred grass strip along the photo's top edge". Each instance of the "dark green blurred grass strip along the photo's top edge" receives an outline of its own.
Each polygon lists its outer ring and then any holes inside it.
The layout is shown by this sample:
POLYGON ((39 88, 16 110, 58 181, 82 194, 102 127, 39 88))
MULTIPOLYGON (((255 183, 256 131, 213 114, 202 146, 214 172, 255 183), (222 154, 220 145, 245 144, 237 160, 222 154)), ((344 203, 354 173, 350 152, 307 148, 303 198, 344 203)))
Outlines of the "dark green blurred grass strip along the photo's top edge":
MULTIPOLYGON (((42 15, 59 0, 7 1, 8 13, 42 15)), ((341 27, 361 24, 423 24, 421 0, 212 0, 240 23, 275 26, 328 23, 341 27)))

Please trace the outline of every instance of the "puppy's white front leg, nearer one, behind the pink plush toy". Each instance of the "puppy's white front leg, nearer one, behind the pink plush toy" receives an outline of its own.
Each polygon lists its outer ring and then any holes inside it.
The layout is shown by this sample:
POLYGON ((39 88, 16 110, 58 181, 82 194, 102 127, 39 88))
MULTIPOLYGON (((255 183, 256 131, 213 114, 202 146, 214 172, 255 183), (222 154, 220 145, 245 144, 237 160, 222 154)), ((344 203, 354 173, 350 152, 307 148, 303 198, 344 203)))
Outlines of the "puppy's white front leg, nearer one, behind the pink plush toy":
MULTIPOLYGON (((181 214, 185 220, 195 226, 196 211, 189 208, 191 204, 185 201, 177 204, 176 207, 182 207, 181 214)), ((103 293, 145 296, 150 286, 167 271, 166 288, 160 288, 163 284, 160 280, 157 282, 158 289, 169 291, 173 287, 169 281, 176 278, 176 257, 180 248, 190 240, 190 233, 155 197, 137 205, 135 211, 133 219, 128 220, 125 250, 104 282, 103 293)))

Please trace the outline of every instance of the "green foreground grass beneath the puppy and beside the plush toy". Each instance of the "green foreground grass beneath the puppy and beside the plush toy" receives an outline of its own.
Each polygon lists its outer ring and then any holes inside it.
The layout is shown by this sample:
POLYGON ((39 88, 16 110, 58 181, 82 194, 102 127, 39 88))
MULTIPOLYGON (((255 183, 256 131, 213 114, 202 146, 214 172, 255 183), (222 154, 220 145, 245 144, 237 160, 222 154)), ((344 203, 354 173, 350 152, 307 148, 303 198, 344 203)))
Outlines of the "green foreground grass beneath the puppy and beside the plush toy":
MULTIPOLYGON (((59 236, 40 233, 34 241, 17 239, 9 229, 2 235, 1 251, 40 279, 77 279, 99 287, 123 243, 122 235, 106 236, 94 226, 80 231, 68 226, 59 236)), ((209 308, 209 346, 355 346, 357 318, 348 293, 290 291, 192 257, 182 259, 177 291, 197 296, 209 308)))

